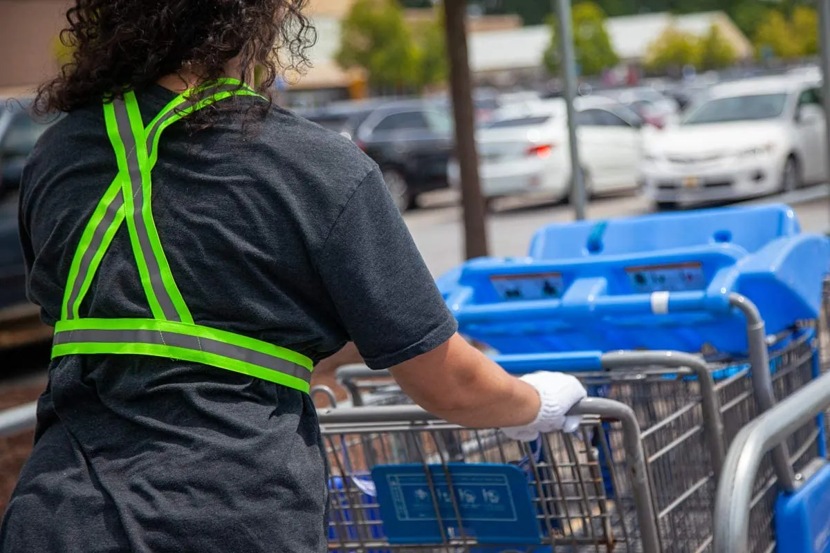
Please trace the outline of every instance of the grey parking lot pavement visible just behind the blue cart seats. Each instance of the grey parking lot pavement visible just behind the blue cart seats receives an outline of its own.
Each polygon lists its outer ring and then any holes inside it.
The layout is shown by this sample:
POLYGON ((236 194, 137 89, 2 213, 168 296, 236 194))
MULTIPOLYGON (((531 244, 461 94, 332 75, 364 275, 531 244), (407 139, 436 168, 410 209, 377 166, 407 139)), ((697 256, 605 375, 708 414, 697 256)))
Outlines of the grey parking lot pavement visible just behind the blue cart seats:
MULTIPOLYGON (((785 196, 748 203, 783 202, 796 211, 803 230, 830 230, 830 185, 808 187, 785 196)), ((598 198, 586 209, 588 219, 637 216, 651 211, 646 198, 636 195, 598 198)), ((424 198, 422 208, 404 216, 415 243, 433 276, 461 264, 464 258, 461 208, 452 192, 424 198)), ((548 223, 574 221, 574 209, 542 199, 505 198, 489 214, 490 255, 525 255, 535 230, 548 223)))

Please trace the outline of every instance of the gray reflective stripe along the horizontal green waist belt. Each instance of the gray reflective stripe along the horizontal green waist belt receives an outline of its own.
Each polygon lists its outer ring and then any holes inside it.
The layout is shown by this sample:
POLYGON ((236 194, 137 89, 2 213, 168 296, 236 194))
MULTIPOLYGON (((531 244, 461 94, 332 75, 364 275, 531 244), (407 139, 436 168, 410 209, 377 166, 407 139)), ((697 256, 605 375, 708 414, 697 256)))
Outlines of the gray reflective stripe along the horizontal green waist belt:
POLYGON ((215 353, 222 357, 236 359, 261 366, 271 371, 295 376, 302 381, 311 381, 311 371, 305 366, 286 361, 281 357, 274 357, 267 353, 257 352, 247 347, 235 346, 227 342, 219 342, 211 338, 179 334, 178 332, 160 332, 156 330, 72 330, 56 332, 52 340, 53 346, 73 343, 140 343, 158 346, 183 347, 194 352, 215 353))

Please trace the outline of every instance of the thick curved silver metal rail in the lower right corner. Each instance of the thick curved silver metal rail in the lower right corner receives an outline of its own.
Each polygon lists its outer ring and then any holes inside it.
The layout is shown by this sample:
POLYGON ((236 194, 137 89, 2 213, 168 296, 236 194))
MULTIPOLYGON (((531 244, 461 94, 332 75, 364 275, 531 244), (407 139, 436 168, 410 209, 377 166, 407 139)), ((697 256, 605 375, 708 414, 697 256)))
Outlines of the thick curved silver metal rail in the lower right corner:
MULTIPOLYGON (((746 551, 755 477, 764 455, 801 425, 830 407, 830 373, 798 390, 741 429, 726 455, 715 500, 715 553, 746 551)), ((826 461, 824 461, 826 463, 826 461)), ((779 489, 796 491, 806 480, 775 465, 779 489)))

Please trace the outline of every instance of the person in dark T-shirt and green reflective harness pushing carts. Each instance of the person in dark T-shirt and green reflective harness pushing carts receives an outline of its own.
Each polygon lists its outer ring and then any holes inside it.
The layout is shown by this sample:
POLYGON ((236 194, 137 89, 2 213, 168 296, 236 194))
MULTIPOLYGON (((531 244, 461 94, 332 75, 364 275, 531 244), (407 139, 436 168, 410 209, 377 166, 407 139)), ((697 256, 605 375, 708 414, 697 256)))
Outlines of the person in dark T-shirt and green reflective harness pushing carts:
POLYGON ((574 429, 572 376, 457 334, 378 166, 277 107, 305 0, 75 0, 20 191, 55 327, 2 553, 327 550, 312 368, 347 343, 418 405, 516 439, 574 429))

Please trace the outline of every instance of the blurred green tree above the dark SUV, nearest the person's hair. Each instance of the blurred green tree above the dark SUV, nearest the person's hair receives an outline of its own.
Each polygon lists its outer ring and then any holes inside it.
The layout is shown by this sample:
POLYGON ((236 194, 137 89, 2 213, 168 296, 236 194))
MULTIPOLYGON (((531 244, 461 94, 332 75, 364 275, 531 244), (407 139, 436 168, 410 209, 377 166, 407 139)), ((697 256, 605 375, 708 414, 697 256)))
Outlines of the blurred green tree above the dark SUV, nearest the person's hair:
POLYGON ((397 89, 417 80, 417 48, 396 0, 357 0, 340 33, 337 63, 364 69, 369 85, 397 89))

